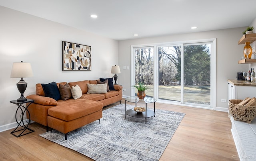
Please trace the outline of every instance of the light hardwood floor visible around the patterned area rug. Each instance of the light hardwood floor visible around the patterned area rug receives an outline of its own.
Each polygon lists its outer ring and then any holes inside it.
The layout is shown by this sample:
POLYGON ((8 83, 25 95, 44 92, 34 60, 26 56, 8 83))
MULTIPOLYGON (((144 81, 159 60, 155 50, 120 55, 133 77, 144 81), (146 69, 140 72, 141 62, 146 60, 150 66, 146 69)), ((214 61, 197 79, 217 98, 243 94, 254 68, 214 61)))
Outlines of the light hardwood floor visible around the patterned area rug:
MULTIPOLYGON (((119 103, 106 108, 117 104, 119 103)), ((152 104, 148 105, 152 108, 152 104)), ((156 103, 156 108, 186 113, 160 161, 239 160, 227 112, 162 103, 156 103)), ((21 137, 11 135, 12 130, 0 133, 0 161, 92 160, 38 136, 46 132, 44 126, 32 123, 29 127, 35 132, 21 137)))

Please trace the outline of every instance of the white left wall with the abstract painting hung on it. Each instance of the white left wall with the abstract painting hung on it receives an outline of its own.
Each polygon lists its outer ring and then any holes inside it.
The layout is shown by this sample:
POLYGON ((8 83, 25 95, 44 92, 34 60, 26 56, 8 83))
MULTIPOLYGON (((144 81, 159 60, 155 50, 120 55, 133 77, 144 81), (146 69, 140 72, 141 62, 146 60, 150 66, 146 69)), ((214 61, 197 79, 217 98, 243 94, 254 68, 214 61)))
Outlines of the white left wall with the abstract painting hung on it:
POLYGON ((31 63, 34 77, 24 78, 28 83, 25 96, 35 93, 36 83, 112 77, 111 66, 118 64, 116 40, 2 6, 0 22, 0 131, 12 128, 16 122, 17 106, 10 100, 19 98, 20 93, 16 87, 19 79, 10 78, 13 62, 31 63), (92 71, 62 71, 62 41, 91 46, 92 71))

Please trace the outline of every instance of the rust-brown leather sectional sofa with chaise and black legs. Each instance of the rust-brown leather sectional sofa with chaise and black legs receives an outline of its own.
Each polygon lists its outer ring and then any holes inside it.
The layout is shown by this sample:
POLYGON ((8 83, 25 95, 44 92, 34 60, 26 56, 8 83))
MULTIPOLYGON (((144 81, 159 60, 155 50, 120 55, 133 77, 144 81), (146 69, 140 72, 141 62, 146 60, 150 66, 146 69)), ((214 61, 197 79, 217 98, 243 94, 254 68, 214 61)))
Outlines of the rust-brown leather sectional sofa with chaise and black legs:
MULTIPOLYGON (((98 80, 99 81, 99 80, 98 80)), ((65 85, 67 82, 57 83, 65 85)), ((97 84, 97 80, 69 82, 70 87, 80 86, 82 96, 79 99, 54 100, 46 97, 41 84, 36 84, 36 94, 26 98, 34 100, 28 107, 30 120, 65 134, 102 118, 102 108, 122 100, 122 86, 114 84, 115 90, 103 94, 87 94, 87 84, 97 84)), ((28 113, 27 113, 28 117, 28 113)))

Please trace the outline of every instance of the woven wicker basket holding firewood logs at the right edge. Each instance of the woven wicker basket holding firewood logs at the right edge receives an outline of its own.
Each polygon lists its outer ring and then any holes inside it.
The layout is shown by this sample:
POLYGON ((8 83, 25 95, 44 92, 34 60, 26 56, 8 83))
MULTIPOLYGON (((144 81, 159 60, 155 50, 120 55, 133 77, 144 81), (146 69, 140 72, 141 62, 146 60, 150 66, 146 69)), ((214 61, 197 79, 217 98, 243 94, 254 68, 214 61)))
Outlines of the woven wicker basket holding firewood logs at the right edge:
POLYGON ((256 106, 237 105, 240 102, 242 100, 229 100, 229 116, 233 116, 234 120, 245 121, 250 124, 256 117, 256 106))

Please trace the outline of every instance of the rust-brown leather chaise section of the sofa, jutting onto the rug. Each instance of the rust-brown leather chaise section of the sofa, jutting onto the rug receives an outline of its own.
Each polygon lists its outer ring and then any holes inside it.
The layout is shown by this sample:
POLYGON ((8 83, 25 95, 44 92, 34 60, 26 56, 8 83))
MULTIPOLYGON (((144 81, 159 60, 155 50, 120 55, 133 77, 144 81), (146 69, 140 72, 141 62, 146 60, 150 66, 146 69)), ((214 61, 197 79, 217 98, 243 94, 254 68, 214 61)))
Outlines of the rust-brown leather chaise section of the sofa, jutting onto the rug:
POLYGON ((102 118, 101 102, 77 99, 48 109, 47 124, 51 129, 65 134, 102 118))

